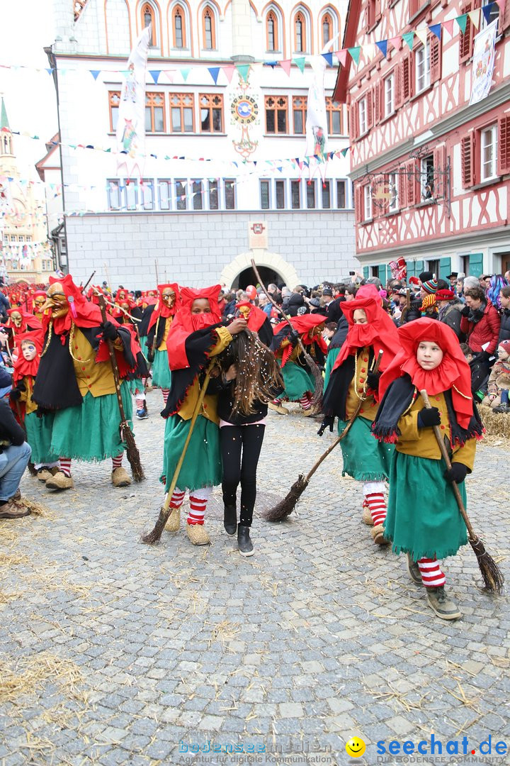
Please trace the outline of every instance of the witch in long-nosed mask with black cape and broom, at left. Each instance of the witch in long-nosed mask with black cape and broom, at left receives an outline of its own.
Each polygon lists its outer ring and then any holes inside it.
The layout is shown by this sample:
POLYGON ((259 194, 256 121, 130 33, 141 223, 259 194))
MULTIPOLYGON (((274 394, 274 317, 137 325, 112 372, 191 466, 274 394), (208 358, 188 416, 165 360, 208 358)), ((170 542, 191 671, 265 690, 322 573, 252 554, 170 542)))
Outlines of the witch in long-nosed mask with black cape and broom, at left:
POLYGON ((33 398, 51 430, 50 447, 59 456, 60 470, 46 486, 73 486, 72 458, 90 462, 107 457, 112 458, 113 486, 128 486, 131 479, 122 468, 125 445, 107 341, 115 349, 125 417, 131 421, 132 398, 125 383, 137 363, 131 332, 111 316, 103 324, 99 306, 86 300, 70 274, 50 277, 47 299, 44 349, 33 398))

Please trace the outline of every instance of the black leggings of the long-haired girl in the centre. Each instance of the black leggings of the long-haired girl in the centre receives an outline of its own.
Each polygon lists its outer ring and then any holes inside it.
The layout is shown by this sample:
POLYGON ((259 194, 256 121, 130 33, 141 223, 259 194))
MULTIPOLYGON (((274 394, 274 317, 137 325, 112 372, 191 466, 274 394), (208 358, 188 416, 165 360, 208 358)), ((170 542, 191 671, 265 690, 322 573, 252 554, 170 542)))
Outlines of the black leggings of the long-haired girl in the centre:
POLYGON ((236 506, 236 492, 240 482, 239 524, 243 526, 252 525, 257 496, 257 464, 264 431, 264 425, 223 426, 219 429, 223 460, 223 502, 226 506, 236 506))

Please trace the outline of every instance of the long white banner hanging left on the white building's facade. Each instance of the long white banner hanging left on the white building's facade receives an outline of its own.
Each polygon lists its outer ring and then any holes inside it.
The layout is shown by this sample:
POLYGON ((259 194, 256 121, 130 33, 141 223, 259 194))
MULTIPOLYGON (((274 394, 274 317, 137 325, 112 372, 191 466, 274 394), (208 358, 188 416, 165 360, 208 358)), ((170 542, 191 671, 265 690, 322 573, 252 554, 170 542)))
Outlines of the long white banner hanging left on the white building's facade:
POLYGON ((117 162, 117 173, 125 167, 125 176, 142 175, 137 155, 145 154, 145 69, 151 25, 135 42, 128 59, 125 80, 122 83, 117 121, 117 151, 122 152, 117 162))

